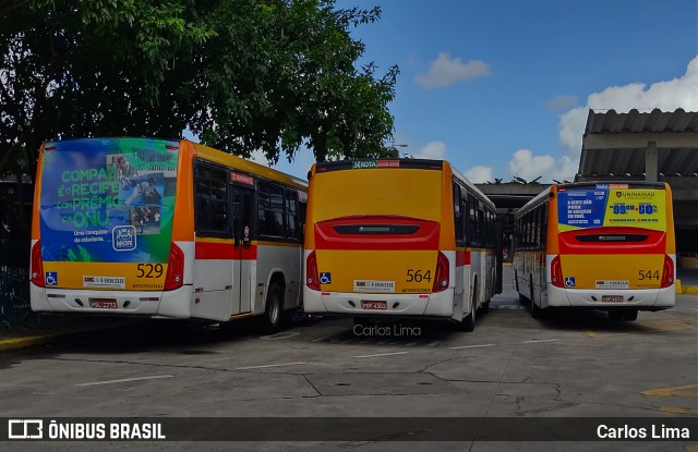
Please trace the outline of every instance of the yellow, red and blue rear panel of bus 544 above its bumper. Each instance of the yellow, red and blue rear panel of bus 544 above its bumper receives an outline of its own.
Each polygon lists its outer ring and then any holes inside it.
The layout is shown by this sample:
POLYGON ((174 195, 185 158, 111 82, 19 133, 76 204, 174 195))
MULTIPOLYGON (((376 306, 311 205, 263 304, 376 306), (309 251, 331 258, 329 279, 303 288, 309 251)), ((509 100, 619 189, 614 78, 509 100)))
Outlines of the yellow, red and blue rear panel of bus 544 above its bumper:
POLYGON ((561 188, 557 203, 566 289, 660 288, 667 213, 664 190, 627 184, 561 188), (591 231, 594 228, 598 231, 591 231))

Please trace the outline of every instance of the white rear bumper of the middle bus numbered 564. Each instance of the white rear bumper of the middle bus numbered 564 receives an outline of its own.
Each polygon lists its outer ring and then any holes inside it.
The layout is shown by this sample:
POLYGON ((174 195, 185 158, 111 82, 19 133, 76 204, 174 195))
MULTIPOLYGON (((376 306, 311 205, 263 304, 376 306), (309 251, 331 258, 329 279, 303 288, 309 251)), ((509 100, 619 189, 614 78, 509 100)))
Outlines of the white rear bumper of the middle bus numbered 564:
MULTIPOLYGON (((372 306, 376 306, 372 304, 372 306)), ((384 294, 318 292, 303 289, 303 308, 308 314, 372 317, 426 316, 448 319, 454 315, 454 290, 435 294, 384 294), (385 309, 366 308, 362 302, 385 302, 385 309)))

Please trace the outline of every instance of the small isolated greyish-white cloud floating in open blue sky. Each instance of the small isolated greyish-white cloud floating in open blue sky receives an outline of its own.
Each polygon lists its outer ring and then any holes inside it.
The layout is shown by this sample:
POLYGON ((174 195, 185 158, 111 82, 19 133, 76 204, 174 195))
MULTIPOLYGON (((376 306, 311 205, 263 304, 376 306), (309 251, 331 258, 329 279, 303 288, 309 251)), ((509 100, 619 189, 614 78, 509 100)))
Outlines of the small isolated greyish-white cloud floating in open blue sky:
POLYGON ((429 68, 426 74, 419 74, 414 80, 424 88, 445 88, 456 82, 467 82, 490 74, 490 65, 482 60, 462 62, 460 57, 450 58, 441 52, 429 68))

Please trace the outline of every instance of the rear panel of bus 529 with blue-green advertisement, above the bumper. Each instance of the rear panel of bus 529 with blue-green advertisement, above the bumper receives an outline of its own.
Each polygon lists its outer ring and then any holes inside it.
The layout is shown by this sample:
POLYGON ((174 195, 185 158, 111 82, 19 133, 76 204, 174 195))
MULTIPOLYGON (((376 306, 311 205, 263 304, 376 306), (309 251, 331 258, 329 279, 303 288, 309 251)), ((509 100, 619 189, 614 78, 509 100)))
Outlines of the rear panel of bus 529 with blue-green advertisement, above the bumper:
POLYGON ((147 138, 46 144, 39 229, 47 286, 163 289, 178 149, 178 142, 147 138))

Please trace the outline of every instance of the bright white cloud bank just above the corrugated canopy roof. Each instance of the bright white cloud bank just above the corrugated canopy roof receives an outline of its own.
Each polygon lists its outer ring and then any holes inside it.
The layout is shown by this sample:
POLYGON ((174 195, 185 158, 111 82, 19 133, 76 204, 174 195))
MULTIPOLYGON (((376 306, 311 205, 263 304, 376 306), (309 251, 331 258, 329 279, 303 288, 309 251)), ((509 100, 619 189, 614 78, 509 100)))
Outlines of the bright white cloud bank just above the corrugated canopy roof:
POLYGON ((625 86, 611 86, 601 93, 592 93, 587 97, 587 105, 575 108, 559 119, 559 139, 571 155, 581 151, 581 137, 585 133, 589 109, 613 109, 617 113, 626 113, 631 109, 674 111, 683 108, 686 111, 698 110, 698 57, 694 58, 681 77, 657 82, 647 87, 643 83, 625 86))

